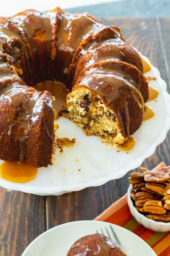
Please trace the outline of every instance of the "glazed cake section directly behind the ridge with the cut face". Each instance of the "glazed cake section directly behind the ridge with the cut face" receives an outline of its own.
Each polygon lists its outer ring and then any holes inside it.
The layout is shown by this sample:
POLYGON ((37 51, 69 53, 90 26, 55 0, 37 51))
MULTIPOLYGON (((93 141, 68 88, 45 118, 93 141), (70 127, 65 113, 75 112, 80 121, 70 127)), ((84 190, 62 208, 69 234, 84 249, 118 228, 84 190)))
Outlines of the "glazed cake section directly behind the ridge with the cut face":
POLYGON ((143 72, 142 60, 132 46, 124 42, 121 31, 115 26, 102 27, 93 37, 82 41, 73 57, 69 82, 73 85, 81 71, 97 62, 123 60, 143 72), (74 78, 74 79, 73 79, 74 78))

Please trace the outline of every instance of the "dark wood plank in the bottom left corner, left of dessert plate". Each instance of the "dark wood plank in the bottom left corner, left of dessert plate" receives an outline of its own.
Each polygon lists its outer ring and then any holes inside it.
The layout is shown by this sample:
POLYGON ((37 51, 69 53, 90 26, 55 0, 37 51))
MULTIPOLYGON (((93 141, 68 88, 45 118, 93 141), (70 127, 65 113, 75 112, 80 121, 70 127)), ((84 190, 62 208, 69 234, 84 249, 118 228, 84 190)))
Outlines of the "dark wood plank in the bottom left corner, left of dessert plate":
POLYGON ((0 256, 19 256, 46 230, 44 197, 0 187, 0 256))

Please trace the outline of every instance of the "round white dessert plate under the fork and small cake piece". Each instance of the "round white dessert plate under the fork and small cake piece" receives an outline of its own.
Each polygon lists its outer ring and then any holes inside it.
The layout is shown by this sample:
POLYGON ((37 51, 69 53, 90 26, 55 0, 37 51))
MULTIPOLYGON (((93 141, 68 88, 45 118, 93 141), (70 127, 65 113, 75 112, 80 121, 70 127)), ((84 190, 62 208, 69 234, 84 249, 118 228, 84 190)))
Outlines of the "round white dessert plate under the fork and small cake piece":
POLYGON ((77 239, 85 235, 95 234, 96 230, 100 233, 101 228, 103 233, 107 235, 105 227, 114 241, 110 232, 110 225, 112 225, 128 256, 156 256, 152 248, 131 231, 118 225, 95 220, 74 221, 49 229, 30 243, 22 256, 66 256, 77 239))

